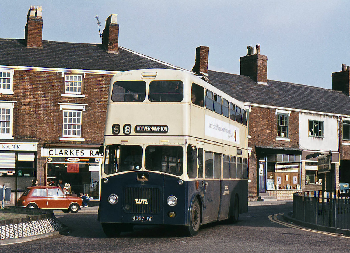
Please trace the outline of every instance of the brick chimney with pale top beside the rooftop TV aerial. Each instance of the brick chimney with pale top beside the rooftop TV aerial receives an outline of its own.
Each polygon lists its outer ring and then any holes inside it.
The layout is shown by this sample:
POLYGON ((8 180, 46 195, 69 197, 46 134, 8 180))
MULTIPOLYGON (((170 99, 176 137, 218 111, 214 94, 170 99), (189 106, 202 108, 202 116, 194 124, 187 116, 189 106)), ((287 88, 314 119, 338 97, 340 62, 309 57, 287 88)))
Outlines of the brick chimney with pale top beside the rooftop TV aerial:
POLYGON ((102 44, 109 53, 118 53, 119 24, 117 14, 111 14, 106 19, 106 26, 102 32, 102 44))

